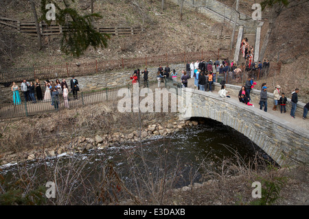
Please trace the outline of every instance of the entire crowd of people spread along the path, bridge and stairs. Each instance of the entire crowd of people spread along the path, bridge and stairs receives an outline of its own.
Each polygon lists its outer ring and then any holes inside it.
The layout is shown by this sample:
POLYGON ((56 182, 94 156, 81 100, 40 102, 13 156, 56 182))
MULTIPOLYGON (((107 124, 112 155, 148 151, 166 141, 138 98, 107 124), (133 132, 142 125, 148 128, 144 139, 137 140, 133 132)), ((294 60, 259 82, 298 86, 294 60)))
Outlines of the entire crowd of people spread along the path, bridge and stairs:
MULTIPOLYGON (((244 41, 246 42, 246 41, 244 41)), ((243 47, 243 49, 246 49, 246 47, 243 47)), ((251 48, 251 51, 253 51, 253 47, 251 48)), ((249 51, 250 52, 250 51, 249 51)), ((247 51, 244 51, 244 55, 249 53, 247 51)), ((201 62, 187 62, 185 66, 185 70, 182 70, 181 75, 181 83, 183 85, 183 88, 187 88, 187 82, 189 79, 194 78, 194 86, 198 90, 208 91, 212 92, 212 85, 214 82, 216 82, 216 76, 220 73, 229 73, 230 70, 233 70, 234 73, 236 73, 235 78, 239 77, 239 75, 242 73, 242 70, 238 68, 235 62, 229 63, 229 60, 223 60, 222 63, 217 59, 215 62, 212 62, 210 59, 205 62, 205 60, 201 60, 201 62)), ((141 75, 144 75, 144 87, 149 87, 148 84, 148 69, 145 68, 144 71, 140 72, 139 69, 134 70, 134 73, 130 76, 130 79, 132 79, 133 84, 140 83, 140 77, 141 75)), ((163 67, 160 65, 157 70, 157 81, 158 81, 158 88, 160 87, 161 80, 162 79, 171 79, 176 83, 177 79, 177 73, 176 70, 173 69, 171 72, 171 69, 168 65, 163 67)), ((230 97, 228 95, 228 91, 226 90, 225 86, 225 80, 220 81, 221 89, 219 90, 218 94, 221 97, 230 97)), ((246 105, 253 105, 251 102, 251 90, 254 88, 256 83, 254 82, 254 77, 248 77, 246 83, 244 86, 241 87, 239 93, 238 93, 238 99, 240 102, 245 103, 246 105)), ((23 92, 23 95, 25 97, 25 101, 31 101, 32 103, 36 103, 36 101, 52 101, 52 105, 54 105, 55 109, 58 110, 59 108, 59 95, 63 96, 65 107, 69 108, 69 90, 67 86, 67 82, 65 79, 62 79, 60 82, 59 79, 56 79, 56 81, 45 81, 45 93, 43 96, 43 89, 41 86, 41 83, 38 79, 36 81, 26 81, 26 79, 23 79, 21 82, 21 92, 23 92), (36 93, 36 95, 35 95, 36 93)), ((75 79, 74 76, 72 76, 72 79, 70 81, 71 86, 71 92, 73 93, 73 99, 78 99, 78 91, 80 90, 78 86, 78 80, 75 79)), ((266 83, 263 83, 261 86, 261 92, 260 92, 260 110, 263 110, 264 112, 267 112, 267 86, 266 83)), ((286 113, 286 102, 287 98, 284 93, 280 93, 280 86, 277 85, 275 87, 275 90, 273 91, 274 96, 274 105, 273 110, 277 111, 277 107, 280 106, 280 112, 286 113)), ((19 86, 13 82, 11 90, 13 92, 13 103, 14 105, 20 105, 21 104, 21 97, 19 96, 19 86)), ((298 102, 297 93, 299 92, 299 89, 295 89, 295 91, 292 93, 291 96, 291 110, 290 110, 290 116, 295 118, 295 112, 298 102)), ((306 119, 306 116, 308 114, 309 110, 309 103, 306 104, 304 107, 304 114, 303 119, 306 119)))

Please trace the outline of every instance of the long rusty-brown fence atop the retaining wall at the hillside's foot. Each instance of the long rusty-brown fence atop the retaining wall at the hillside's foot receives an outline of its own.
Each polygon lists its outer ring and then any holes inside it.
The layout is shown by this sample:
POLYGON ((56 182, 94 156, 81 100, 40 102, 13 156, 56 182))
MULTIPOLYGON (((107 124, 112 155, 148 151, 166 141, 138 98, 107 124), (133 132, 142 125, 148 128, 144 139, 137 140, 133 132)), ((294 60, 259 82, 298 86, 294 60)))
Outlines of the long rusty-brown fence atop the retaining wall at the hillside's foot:
POLYGON ((12 68, 0 70, 0 83, 12 83, 13 81, 32 81, 35 79, 54 79, 61 77, 85 76, 119 70, 124 68, 136 68, 140 66, 159 66, 159 64, 177 64, 192 62, 203 58, 226 57, 227 51, 200 51, 183 53, 165 53, 162 55, 146 55, 145 57, 122 58, 121 60, 95 60, 93 62, 66 63, 51 66, 30 66, 27 68, 12 68))

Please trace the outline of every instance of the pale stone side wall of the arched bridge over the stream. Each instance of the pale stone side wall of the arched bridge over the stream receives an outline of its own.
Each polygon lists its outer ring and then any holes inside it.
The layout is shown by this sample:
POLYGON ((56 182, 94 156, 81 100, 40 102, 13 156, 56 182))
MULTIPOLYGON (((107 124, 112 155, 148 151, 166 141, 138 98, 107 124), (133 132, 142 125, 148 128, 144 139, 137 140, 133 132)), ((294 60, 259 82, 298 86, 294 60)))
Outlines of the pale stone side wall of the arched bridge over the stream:
POLYGON ((248 107, 233 99, 222 99, 216 93, 195 90, 191 103, 192 117, 211 118, 239 131, 280 166, 308 166, 308 130, 265 114, 258 107, 248 107))

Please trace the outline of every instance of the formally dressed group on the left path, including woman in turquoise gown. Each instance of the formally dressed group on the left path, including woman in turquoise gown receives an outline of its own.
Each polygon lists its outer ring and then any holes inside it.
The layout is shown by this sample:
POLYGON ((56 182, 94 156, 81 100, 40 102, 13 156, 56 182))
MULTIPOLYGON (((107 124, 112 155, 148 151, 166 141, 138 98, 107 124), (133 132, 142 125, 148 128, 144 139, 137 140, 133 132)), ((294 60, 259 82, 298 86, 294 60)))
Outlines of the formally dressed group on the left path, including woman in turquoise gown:
MULTIPOLYGON (((78 91, 80 90, 78 86, 78 80, 72 76, 70 81, 71 92, 73 93, 73 99, 78 99, 78 91)), ((14 105, 21 104, 21 96, 19 96, 19 86, 13 82, 11 90, 13 92, 13 103, 14 105)), ((59 96, 63 96, 65 107, 69 108, 69 87, 67 86, 67 81, 59 79, 56 81, 44 81, 44 85, 41 84, 39 79, 36 81, 27 81, 23 79, 21 82, 21 92, 25 98, 25 101, 31 103, 37 103, 37 101, 51 101, 51 105, 54 106, 56 110, 59 109, 59 96), (45 87, 45 92, 43 96, 43 88, 45 87)))

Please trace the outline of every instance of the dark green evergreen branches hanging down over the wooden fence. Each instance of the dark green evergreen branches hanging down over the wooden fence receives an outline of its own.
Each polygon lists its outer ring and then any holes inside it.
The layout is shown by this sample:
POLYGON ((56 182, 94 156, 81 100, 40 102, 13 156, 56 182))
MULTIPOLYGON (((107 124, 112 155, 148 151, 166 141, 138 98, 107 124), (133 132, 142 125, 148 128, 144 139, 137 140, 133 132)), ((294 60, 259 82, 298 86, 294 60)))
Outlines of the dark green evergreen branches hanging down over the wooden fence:
MULTIPOLYGON (((69 1, 74 2, 75 0, 69 1)), ((54 3, 56 7, 56 23, 64 27, 60 49, 65 54, 79 57, 89 46, 94 49, 107 47, 107 40, 111 36, 100 33, 92 25, 93 19, 102 18, 100 14, 81 15, 76 9, 70 8, 68 0, 63 0, 64 9, 60 8, 56 1, 41 0, 41 20, 47 24, 52 22, 46 18, 48 10, 45 9, 45 6, 47 3, 54 3)))

